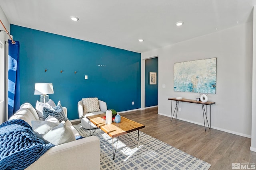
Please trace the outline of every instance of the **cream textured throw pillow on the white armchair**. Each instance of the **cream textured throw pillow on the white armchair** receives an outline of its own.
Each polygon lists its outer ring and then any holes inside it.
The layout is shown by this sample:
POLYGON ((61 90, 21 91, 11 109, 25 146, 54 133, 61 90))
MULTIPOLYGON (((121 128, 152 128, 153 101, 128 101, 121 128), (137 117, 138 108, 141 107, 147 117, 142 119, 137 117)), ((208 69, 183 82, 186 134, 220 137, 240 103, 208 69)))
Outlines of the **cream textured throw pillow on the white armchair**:
POLYGON ((100 111, 98 98, 82 98, 84 113, 100 111))

